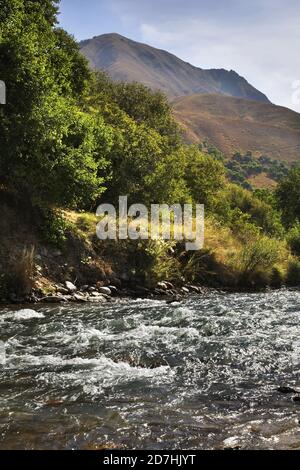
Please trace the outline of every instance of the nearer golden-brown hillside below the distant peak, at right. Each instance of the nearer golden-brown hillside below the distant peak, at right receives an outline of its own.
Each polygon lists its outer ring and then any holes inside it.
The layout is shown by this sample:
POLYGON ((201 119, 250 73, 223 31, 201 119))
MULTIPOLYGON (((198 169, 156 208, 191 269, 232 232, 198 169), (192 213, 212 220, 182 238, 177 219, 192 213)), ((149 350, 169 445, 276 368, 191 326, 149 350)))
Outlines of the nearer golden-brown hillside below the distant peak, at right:
POLYGON ((287 163, 300 160, 300 114, 269 103, 198 94, 173 101, 189 142, 204 139, 225 155, 251 150, 287 163))

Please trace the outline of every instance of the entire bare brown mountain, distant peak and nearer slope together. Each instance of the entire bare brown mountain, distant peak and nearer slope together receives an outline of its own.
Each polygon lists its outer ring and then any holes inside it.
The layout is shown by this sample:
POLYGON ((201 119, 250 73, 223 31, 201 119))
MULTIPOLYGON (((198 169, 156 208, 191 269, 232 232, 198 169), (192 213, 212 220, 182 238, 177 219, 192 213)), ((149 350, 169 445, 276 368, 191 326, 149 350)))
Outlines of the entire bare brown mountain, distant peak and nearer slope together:
POLYGON ((251 150, 300 160, 300 114, 275 106, 234 71, 203 70, 169 52, 103 34, 80 43, 93 69, 165 92, 189 142, 209 140, 230 157, 251 150))

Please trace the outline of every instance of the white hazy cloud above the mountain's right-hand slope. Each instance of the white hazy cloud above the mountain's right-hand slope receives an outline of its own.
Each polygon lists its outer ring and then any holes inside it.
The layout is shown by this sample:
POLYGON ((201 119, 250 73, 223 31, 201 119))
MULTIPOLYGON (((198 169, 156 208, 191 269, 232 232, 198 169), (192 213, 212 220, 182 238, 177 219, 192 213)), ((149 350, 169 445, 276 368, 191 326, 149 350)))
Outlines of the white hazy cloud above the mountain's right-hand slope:
MULTIPOLYGON (((266 0, 267 2, 267 0, 266 0)), ((267 2, 268 3, 268 2, 267 2)), ((277 2, 278 3, 278 2, 277 2)), ((291 12, 290 12, 291 13, 291 12)), ((140 24, 142 40, 202 68, 234 69, 271 101, 300 112, 293 82, 300 79, 299 16, 270 16, 245 24, 238 18, 171 19, 140 24)))

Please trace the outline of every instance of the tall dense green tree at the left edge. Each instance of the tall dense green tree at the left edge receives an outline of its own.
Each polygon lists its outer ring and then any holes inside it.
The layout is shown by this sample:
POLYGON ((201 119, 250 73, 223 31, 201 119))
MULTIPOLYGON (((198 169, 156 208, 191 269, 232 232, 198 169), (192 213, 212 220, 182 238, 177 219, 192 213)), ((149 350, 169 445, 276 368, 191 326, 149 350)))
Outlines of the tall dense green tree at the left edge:
POLYGON ((90 72, 55 26, 57 3, 1 0, 0 183, 35 205, 76 207, 104 189, 110 135, 80 109, 90 72))

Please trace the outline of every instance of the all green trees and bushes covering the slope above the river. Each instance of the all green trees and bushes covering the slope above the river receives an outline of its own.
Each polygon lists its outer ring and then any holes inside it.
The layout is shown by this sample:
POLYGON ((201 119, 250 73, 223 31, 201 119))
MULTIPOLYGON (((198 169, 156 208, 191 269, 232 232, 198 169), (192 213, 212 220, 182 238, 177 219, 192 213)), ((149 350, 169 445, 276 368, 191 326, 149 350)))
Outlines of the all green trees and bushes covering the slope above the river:
MULTIPOLYGON (((208 144, 185 145, 162 93, 88 69, 57 27, 57 4, 0 2, 0 77, 8 94, 0 108, 0 190, 33 214, 40 240, 63 246, 79 237, 115 272, 127 267, 147 284, 298 282, 300 169, 250 152, 226 161, 208 144), (247 178, 262 172, 280 181, 275 192, 249 190, 247 178), (205 204, 204 249, 96 240, 91 213, 119 195, 147 206, 205 204)), ((33 251, 24 255, 14 269, 26 291, 33 258, 33 251)))

